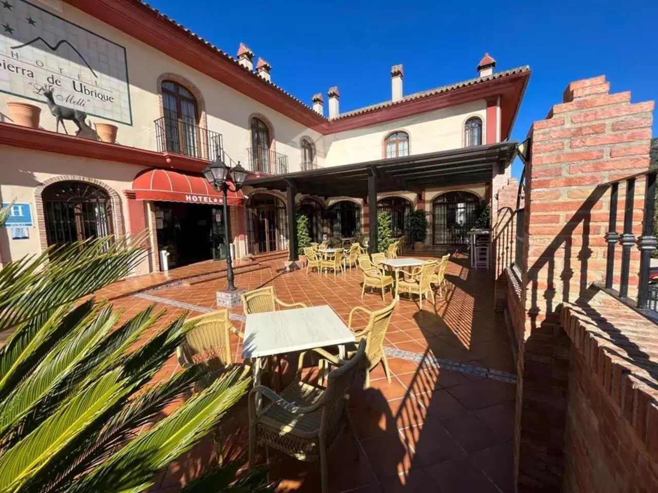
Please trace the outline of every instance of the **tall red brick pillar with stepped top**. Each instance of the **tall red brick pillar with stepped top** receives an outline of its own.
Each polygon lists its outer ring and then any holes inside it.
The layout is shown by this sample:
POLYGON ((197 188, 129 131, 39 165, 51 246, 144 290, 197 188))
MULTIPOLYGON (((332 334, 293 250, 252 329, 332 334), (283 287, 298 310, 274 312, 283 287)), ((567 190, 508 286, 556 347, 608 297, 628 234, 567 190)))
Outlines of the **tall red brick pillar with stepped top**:
MULTIPOLYGON (((649 166, 653 102, 631 104, 628 92, 609 94, 603 76, 570 83, 563 101, 530 129, 524 330, 517 340, 518 492, 559 491, 562 485, 569 339, 555 308, 586 296, 586 289, 604 278, 609 191, 597 185, 649 166)), ((638 179, 636 234, 643 193, 644 179, 638 179)), ((620 220, 623 185, 619 195, 620 220)), ((630 282, 636 284, 636 249, 633 258, 630 282)))

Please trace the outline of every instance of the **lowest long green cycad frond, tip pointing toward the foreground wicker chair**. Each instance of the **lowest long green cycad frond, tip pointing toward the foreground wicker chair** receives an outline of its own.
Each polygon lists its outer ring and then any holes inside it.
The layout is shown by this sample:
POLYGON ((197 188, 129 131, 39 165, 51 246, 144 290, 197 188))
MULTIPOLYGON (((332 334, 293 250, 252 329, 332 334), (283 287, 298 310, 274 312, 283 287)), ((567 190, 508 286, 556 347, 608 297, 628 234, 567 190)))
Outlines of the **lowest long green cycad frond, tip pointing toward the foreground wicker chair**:
POLYGON ((249 379, 238 371, 218 379, 153 428, 139 434, 76 485, 73 491, 121 492, 150 484, 159 471, 215 427, 224 412, 240 399, 249 379))

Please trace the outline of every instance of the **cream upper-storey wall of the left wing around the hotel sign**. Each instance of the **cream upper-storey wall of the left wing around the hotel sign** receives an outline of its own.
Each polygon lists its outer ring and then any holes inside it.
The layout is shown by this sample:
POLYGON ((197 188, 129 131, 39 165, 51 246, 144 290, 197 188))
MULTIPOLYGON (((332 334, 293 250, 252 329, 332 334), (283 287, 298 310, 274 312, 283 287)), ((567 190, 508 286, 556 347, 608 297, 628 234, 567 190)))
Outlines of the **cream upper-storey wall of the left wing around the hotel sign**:
MULTIPOLYGON (((305 128, 290 118, 274 112, 274 110, 270 110, 267 106, 257 103, 257 101, 242 93, 193 70, 92 16, 74 9, 67 3, 63 3, 62 12, 53 11, 53 13, 126 48, 133 125, 107 121, 118 126, 118 143, 153 151, 157 149, 155 124, 153 122, 161 117, 157 87, 158 78, 162 74, 172 73, 186 78, 199 89, 205 101, 207 128, 223 135, 224 150, 234 160, 240 160, 246 166, 247 147, 251 145, 249 116, 253 113, 259 113, 272 123, 276 152, 288 155, 290 171, 299 170, 299 163, 301 162, 300 140, 303 136, 309 137, 316 144, 318 164, 320 166, 324 164, 324 148, 317 132, 305 128)), ((57 90, 55 92, 57 93, 57 90)), ((9 111, 5 105, 7 101, 27 100, 0 93, 0 121, 11 122, 9 111)), ((54 131, 55 117, 50 114, 47 105, 32 101, 27 102, 37 104, 42 108, 41 127, 54 131)), ((106 122, 106 120, 97 116, 89 118, 93 123, 106 122)), ((68 122, 66 128, 70 133, 74 133, 76 129, 72 122, 68 122)), ((62 129, 60 131, 63 133, 62 129)))

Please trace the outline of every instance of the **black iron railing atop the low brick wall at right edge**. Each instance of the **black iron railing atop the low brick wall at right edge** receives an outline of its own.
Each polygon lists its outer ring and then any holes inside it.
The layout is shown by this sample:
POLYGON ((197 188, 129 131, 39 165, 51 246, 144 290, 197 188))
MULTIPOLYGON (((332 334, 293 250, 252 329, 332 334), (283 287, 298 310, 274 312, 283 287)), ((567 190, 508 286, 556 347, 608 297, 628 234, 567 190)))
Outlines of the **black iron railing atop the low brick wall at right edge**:
POLYGON ((651 252, 657 246, 657 240, 653 229, 653 218, 655 213, 656 174, 658 170, 649 170, 628 176, 615 181, 603 183, 599 187, 610 189, 610 216, 608 231, 605 240, 608 244, 607 262, 605 266, 605 289, 612 294, 617 294, 627 304, 634 304, 639 310, 655 310, 656 293, 653 287, 649 287, 649 269, 651 268, 651 252), (645 177, 644 212, 642 218, 642 235, 636 239, 633 234, 633 208, 635 200, 635 185, 638 178, 645 177), (625 182, 626 199, 624 200, 624 225, 622 233, 617 232, 617 200, 619 197, 619 185, 625 182), (621 265, 619 275, 619 291, 613 289, 615 279, 615 250, 617 243, 621 247, 621 265), (630 277, 631 249, 637 245, 640 249, 640 279, 638 281, 638 299, 636 302, 628 297, 628 283, 630 277), (653 301, 650 301, 653 300, 653 301))

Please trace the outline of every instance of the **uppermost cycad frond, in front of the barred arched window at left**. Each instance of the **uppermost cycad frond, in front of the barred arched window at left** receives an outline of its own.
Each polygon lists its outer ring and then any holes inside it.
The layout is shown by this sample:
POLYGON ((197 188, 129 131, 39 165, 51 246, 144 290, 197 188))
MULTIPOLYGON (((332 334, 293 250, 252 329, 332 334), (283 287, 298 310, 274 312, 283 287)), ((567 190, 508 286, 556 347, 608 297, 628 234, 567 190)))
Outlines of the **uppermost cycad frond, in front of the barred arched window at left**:
POLYGON ((57 250, 49 249, 0 270, 0 331, 10 329, 47 310, 93 293, 132 271, 145 251, 143 237, 97 238, 57 250))

